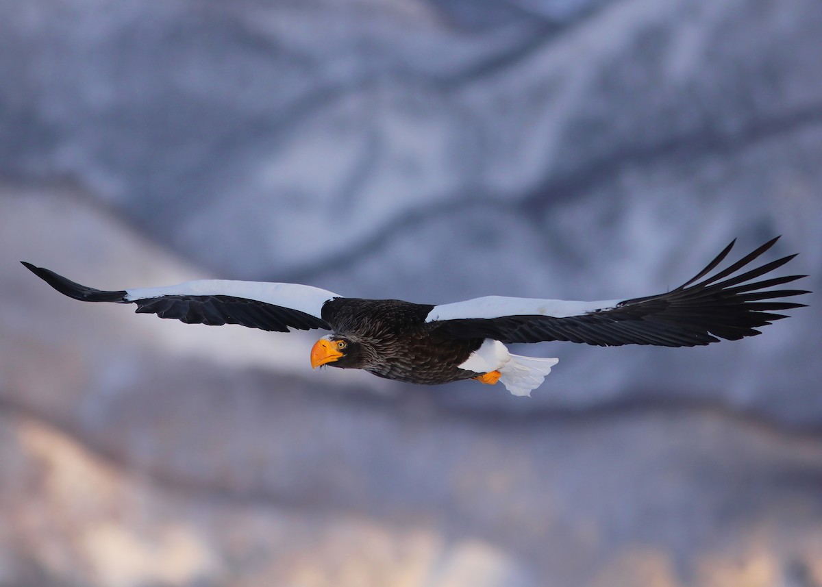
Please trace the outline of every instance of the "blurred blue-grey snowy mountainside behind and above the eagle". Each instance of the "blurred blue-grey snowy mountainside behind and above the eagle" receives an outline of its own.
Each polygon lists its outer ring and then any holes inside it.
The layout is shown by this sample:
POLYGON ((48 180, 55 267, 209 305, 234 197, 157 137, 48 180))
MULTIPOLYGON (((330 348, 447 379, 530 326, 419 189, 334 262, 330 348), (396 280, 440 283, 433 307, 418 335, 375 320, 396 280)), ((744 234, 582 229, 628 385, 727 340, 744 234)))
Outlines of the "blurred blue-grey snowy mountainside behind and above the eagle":
MULTIPOLYGON (((820 289, 819 2, 496 6, 533 12, 31 2, 0 24, 2 173, 85 187, 212 274, 358 297, 629 298, 778 233, 820 289)), ((816 420, 820 312, 707 350, 547 345, 533 404, 816 420)))

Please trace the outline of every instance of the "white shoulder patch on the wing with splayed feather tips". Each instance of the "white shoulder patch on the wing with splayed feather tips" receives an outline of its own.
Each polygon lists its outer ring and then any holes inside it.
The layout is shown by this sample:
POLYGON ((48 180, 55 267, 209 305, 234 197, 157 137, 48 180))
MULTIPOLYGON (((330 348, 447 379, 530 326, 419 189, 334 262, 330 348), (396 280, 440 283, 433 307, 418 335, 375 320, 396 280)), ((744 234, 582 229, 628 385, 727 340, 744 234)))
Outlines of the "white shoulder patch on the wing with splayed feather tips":
POLYGON ((464 302, 434 306, 425 321, 459 320, 462 318, 499 318, 503 316, 551 316, 565 318, 580 316, 595 310, 614 307, 621 300, 598 302, 569 302, 561 299, 506 298, 489 295, 464 302))

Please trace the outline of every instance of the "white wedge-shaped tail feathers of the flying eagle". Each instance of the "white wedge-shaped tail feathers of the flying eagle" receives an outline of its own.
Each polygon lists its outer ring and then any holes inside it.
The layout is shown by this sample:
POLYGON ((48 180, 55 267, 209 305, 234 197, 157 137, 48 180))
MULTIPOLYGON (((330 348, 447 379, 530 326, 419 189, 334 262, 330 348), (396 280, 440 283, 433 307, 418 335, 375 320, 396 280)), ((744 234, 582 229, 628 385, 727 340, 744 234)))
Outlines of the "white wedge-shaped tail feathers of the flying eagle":
POLYGON ((475 373, 499 371, 500 381, 513 395, 531 395, 531 390, 543 384, 551 367, 559 363, 558 358, 522 357, 510 354, 505 344, 499 340, 486 339, 475 350, 460 369, 475 373))

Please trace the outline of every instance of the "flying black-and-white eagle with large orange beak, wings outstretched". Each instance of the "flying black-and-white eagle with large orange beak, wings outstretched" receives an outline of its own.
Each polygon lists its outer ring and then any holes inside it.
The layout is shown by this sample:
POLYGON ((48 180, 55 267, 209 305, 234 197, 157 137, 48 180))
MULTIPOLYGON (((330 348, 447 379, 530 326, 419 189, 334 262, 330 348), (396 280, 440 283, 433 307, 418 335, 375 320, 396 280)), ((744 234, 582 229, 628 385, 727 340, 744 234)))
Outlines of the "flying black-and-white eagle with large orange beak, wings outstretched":
POLYGON ((61 294, 84 302, 135 303, 137 313, 189 324, 330 330, 311 350, 313 368, 365 369, 423 385, 501 381, 514 395, 530 395, 559 359, 512 354, 506 344, 561 340, 700 346, 758 335, 757 328, 786 317, 774 312, 805 306, 783 298, 810 292, 772 288, 806 275, 757 280, 796 255, 750 268, 778 238, 709 275, 731 252, 734 239, 693 279, 664 294, 598 302, 486 296, 433 305, 345 298, 310 285, 235 280, 102 291, 21 262, 61 294))

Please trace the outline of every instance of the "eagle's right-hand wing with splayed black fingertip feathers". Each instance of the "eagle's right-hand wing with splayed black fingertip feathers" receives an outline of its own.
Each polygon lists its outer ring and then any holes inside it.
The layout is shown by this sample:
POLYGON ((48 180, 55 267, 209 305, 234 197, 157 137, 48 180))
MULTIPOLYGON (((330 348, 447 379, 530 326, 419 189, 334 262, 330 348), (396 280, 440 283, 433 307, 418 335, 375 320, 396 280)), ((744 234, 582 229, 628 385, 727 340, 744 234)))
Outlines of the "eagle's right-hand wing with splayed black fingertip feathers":
POLYGON ((766 289, 806 275, 753 281, 796 255, 731 277, 777 240, 778 237, 764 243, 703 280, 727 257, 736 242, 732 241, 692 280, 666 294, 603 302, 491 296, 435 306, 426 321, 432 322, 436 335, 457 339, 483 337, 505 343, 567 340, 600 346, 696 346, 720 339, 738 340, 758 335, 760 331, 756 328, 785 317, 774 311, 805 305, 781 298, 810 293, 800 289, 766 289))

